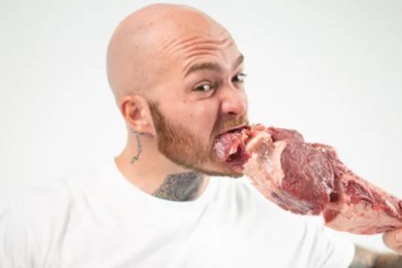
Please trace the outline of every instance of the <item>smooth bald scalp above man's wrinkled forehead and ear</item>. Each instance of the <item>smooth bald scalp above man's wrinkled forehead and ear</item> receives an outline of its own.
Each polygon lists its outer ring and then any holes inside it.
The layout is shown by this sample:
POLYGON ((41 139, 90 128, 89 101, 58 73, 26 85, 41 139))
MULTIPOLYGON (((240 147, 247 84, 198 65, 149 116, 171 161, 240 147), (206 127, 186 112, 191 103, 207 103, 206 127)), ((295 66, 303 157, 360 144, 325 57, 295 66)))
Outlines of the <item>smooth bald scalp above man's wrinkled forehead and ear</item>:
POLYGON ((185 5, 152 4, 126 17, 107 50, 107 76, 116 103, 123 96, 147 95, 170 70, 172 55, 180 53, 175 43, 205 33, 229 35, 205 13, 185 5))

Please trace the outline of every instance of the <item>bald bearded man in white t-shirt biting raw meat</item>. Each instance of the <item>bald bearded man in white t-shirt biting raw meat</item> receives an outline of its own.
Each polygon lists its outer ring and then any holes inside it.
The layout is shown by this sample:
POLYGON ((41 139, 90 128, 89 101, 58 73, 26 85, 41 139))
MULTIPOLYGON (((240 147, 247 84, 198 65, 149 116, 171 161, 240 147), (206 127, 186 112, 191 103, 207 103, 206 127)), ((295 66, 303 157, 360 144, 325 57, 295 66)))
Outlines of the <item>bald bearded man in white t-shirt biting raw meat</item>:
MULTIPOLYGON (((121 21, 107 74, 127 145, 4 211, 0 266, 402 267, 400 255, 355 251, 244 181, 208 177, 241 176, 213 147, 247 124, 243 59, 227 30, 188 6, 153 4, 121 21)), ((384 235, 398 254, 400 232, 384 235)))

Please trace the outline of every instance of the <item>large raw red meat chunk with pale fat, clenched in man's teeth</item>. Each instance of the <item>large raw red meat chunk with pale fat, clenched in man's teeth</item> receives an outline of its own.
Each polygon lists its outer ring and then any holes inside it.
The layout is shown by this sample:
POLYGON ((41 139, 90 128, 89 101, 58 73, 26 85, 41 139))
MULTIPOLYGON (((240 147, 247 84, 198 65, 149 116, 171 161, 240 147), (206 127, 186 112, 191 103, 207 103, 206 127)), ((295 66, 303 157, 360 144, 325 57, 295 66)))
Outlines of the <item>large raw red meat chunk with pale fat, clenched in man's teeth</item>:
POLYGON ((401 200, 351 172, 332 147, 306 143, 296 130, 230 131, 216 139, 215 152, 292 213, 322 214, 328 227, 358 234, 402 227, 401 200))

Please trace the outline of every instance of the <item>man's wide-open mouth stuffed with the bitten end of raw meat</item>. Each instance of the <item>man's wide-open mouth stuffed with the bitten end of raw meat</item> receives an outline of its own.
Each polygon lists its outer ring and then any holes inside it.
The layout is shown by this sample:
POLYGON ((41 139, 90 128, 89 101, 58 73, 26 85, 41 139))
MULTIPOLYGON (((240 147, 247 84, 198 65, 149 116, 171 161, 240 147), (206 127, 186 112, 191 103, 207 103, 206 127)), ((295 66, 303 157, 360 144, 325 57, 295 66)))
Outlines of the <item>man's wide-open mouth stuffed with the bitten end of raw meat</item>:
POLYGON ((216 155, 236 172, 243 172, 243 164, 250 157, 246 151, 249 130, 249 126, 242 126, 222 133, 215 139, 214 151, 216 155))

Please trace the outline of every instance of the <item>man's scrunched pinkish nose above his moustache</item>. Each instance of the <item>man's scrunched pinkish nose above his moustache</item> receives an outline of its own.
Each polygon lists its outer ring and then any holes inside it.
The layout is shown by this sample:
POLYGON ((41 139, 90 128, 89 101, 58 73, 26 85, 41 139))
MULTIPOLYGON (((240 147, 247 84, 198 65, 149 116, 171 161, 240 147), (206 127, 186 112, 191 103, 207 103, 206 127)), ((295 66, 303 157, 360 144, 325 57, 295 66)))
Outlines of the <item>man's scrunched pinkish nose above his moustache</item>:
POLYGON ((247 113, 247 96, 243 88, 228 87, 222 90, 222 113, 238 117, 247 113))

